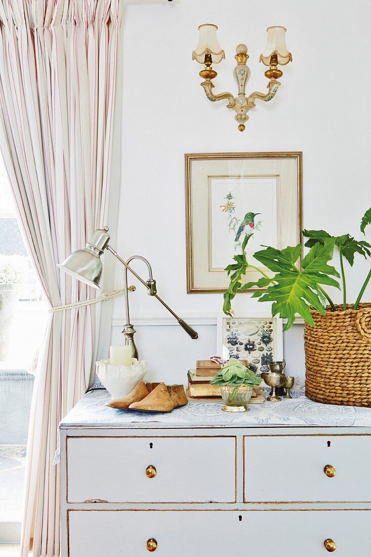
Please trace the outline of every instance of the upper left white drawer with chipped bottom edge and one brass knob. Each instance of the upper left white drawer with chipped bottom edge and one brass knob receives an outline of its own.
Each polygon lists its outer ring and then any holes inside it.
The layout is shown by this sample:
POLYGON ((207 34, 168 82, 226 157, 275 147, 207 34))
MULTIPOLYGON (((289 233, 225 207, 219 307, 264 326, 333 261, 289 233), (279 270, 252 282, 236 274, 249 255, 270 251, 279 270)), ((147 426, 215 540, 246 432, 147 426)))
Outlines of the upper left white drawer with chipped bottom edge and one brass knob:
POLYGON ((235 502, 236 438, 69 437, 67 501, 235 502))

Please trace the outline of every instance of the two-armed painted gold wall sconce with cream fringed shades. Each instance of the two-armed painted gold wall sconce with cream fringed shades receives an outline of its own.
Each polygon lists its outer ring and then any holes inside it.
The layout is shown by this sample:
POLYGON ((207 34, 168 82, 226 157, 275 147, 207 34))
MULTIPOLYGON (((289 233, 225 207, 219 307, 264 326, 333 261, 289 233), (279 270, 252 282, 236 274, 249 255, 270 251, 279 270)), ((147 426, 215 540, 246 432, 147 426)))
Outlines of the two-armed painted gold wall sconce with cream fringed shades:
POLYGON ((243 131, 245 130, 245 122, 248 120, 247 113, 254 108, 256 99, 270 101, 281 85, 277 79, 282 76, 282 71, 277 66, 284 66, 292 61, 291 52, 286 47, 286 28, 277 25, 267 28, 267 45, 259 59, 265 66, 269 66, 269 70, 264 74, 269 79, 266 95, 260 92, 253 92, 246 96, 246 85, 250 78, 250 68, 246 65, 248 58, 247 46, 237 46, 235 56, 237 66, 233 70, 233 75, 238 85, 237 97, 234 97, 232 93, 214 95, 212 92, 214 88, 212 80, 218 74, 212 69, 211 65, 212 63, 217 64, 221 62, 226 57, 217 40, 217 29, 218 27, 212 23, 204 23, 204 25, 198 27, 199 40, 196 50, 192 52, 192 60, 197 60, 197 62, 205 65, 204 70, 199 72, 199 75, 204 79, 201 86, 206 92, 207 98, 213 102, 226 99, 228 101, 227 108, 232 108, 237 113, 235 119, 238 122, 238 129, 243 131))

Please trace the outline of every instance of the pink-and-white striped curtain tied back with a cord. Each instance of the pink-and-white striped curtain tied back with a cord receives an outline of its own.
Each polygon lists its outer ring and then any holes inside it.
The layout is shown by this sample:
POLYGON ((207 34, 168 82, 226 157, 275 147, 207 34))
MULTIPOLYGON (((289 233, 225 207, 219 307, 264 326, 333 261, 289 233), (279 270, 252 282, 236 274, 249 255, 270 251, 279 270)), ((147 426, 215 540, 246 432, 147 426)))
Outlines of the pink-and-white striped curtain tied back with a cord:
POLYGON ((56 265, 108 222, 122 4, 0 0, 0 148, 51 309, 31 409, 22 557, 32 538, 34 556, 60 555, 58 422, 91 383, 102 332, 101 304, 52 308, 96 292, 56 265))

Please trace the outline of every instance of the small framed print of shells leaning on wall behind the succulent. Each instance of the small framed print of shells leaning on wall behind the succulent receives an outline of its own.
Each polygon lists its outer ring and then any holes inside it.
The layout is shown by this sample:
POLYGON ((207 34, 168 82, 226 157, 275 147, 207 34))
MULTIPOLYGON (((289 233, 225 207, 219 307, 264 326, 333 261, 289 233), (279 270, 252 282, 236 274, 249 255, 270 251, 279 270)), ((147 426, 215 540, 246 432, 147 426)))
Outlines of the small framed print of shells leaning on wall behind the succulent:
POLYGON ((247 360, 257 375, 269 372, 268 364, 284 357, 282 319, 269 312, 217 315, 217 354, 224 360, 247 360))

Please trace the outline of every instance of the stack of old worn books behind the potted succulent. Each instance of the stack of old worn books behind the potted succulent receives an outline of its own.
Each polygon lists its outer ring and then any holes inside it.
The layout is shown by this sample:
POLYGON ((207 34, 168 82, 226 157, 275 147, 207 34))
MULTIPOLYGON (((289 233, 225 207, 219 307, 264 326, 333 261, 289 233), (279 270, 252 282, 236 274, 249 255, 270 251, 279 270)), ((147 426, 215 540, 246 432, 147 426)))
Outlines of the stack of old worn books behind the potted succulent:
MULTIPOLYGON (((241 360, 243 365, 248 368, 248 362, 241 360)), ((221 369, 222 365, 217 364, 212 360, 198 360, 196 369, 188 371, 188 389, 187 396, 189 400, 217 400, 221 399, 220 389, 218 385, 212 385, 210 380, 221 369)), ((251 397, 251 403, 264 402, 261 390, 259 387, 254 387, 254 392, 251 397)))

